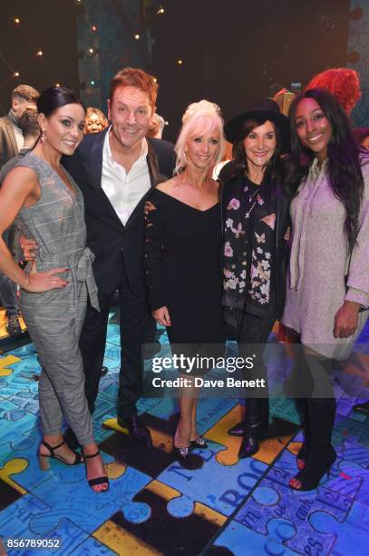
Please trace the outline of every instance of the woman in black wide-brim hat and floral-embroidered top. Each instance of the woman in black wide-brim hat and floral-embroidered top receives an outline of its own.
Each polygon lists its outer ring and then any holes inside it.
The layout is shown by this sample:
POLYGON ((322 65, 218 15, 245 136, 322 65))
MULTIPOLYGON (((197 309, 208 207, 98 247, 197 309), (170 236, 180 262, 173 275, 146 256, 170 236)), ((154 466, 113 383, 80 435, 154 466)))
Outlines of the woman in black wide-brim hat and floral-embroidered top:
MULTIPOLYGON (((242 354, 248 344, 267 342, 284 308, 289 216, 280 155, 287 150, 289 123, 277 103, 266 99, 230 120, 224 131, 235 157, 219 175, 225 223, 222 303, 242 354)), ((263 377, 262 362, 256 366, 263 377)), ((254 455, 267 432, 267 388, 253 393, 246 400, 245 422, 229 431, 243 435, 240 458, 254 455)))

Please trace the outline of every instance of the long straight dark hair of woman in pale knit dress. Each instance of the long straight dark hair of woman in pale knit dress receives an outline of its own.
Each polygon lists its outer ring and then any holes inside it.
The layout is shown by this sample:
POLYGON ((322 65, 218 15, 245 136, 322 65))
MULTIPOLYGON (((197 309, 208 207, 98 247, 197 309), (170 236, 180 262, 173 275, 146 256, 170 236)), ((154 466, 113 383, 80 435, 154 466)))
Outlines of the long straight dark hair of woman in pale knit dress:
POLYGON ((345 234, 349 249, 354 248, 358 229, 358 217, 364 194, 364 179, 361 171, 360 148, 354 140, 350 122, 344 109, 323 88, 309 89, 296 96, 289 109, 291 125, 291 154, 286 161, 284 186, 289 197, 296 195, 299 184, 306 179, 315 154, 307 149, 296 134, 296 108, 304 98, 313 98, 323 110, 332 127, 332 137, 327 146, 328 180, 335 196, 345 206, 345 234))

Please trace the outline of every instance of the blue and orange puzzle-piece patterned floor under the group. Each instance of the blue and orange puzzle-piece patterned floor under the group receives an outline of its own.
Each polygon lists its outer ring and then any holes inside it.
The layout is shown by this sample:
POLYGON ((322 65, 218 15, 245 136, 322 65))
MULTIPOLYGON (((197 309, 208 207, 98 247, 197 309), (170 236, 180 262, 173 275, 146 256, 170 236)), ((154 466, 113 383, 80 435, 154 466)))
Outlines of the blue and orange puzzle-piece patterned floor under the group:
MULTIPOLYGON (((227 433, 242 418, 242 402, 200 400, 199 432, 208 448, 194 452, 200 464, 189 471, 171 455, 176 400, 139 402, 151 429, 151 449, 132 442, 117 424, 119 342, 112 319, 104 359, 109 372, 102 377, 93 415, 111 485, 102 495, 87 486, 83 465, 55 462, 51 471, 39 470, 34 347, 29 343, 0 355, 0 540, 59 540, 55 553, 86 556, 348 555, 353 540, 356 555, 367 553, 369 416, 352 411, 354 400, 339 394, 333 438, 338 458, 316 491, 287 487, 303 433, 294 402, 283 397, 270 403, 272 438, 247 460, 238 460, 240 440, 227 433)), ((165 342, 164 333, 160 343, 165 342)), ((362 367, 351 364, 353 374, 363 375, 362 367)))

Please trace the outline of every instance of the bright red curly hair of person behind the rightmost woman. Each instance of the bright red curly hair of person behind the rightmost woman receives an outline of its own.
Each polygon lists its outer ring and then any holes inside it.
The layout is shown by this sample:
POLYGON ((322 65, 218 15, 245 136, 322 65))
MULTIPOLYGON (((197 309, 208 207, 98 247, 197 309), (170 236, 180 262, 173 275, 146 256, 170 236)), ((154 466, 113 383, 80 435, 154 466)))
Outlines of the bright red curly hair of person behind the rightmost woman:
POLYGON ((305 91, 315 87, 324 87, 350 115, 354 105, 361 98, 359 75, 348 67, 334 67, 314 77, 306 84, 305 91))

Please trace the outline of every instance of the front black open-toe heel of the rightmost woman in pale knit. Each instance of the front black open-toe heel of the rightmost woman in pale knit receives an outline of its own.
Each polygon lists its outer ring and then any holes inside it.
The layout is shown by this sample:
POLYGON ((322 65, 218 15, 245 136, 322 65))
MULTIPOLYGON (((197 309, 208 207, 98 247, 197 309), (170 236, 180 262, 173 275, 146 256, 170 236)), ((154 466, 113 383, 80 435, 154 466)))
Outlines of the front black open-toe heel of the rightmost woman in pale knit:
POLYGON ((301 487, 298 488, 292 484, 294 479, 289 482, 289 487, 294 491, 314 491, 319 485, 325 473, 330 475, 332 465, 335 463, 337 454, 333 446, 329 446, 324 452, 311 453, 309 461, 306 462, 304 469, 296 474, 297 481, 301 487))

